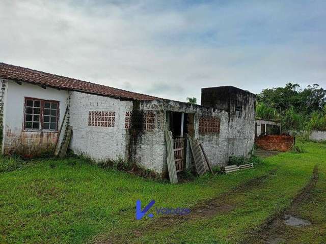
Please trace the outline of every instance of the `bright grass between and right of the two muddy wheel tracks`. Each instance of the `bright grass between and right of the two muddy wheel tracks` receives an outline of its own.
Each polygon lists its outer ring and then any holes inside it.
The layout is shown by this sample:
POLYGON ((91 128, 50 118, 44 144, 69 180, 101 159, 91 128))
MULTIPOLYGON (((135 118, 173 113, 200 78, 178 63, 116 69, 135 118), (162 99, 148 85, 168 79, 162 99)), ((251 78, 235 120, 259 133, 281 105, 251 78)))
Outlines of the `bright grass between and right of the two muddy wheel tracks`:
MULTIPOLYGON (((289 206, 291 199, 310 180, 315 164, 319 164, 319 173, 322 175, 318 184, 326 184, 326 146, 311 142, 298 143, 307 153, 285 153, 265 159, 268 167, 277 167, 276 174, 263 182, 262 186, 234 196, 232 202, 238 205, 233 211, 212 216, 210 219, 197 219, 162 231, 149 231, 142 237, 134 239, 130 234, 128 239, 132 239, 134 243, 151 243, 153 240, 155 243, 237 243, 246 239, 249 230, 259 228, 268 217, 289 206)), ((313 212, 316 218, 325 220, 325 188, 320 187, 318 193, 323 201, 315 201, 315 207, 305 208, 306 216, 313 212)), ((313 235, 315 231, 324 232, 325 222, 320 222, 323 224, 317 224, 311 229, 301 228, 297 232, 305 233, 307 236, 313 235)), ((297 239, 300 240, 300 236, 297 239)))

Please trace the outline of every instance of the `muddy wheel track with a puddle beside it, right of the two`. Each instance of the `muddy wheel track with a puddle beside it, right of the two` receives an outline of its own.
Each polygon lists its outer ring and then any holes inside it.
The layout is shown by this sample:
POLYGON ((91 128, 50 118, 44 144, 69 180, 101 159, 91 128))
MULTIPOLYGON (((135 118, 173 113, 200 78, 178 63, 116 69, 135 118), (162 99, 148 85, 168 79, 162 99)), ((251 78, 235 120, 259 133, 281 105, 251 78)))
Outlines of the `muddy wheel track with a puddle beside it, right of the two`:
POLYGON ((241 243, 265 243, 278 244, 286 243, 286 229, 285 225, 294 227, 302 227, 310 225, 309 221, 296 216, 296 209, 304 201, 311 197, 311 191, 315 188, 318 180, 318 165, 315 165, 312 177, 305 188, 294 198, 291 205, 270 219, 268 219, 260 228, 251 234, 251 237, 243 240, 241 243))

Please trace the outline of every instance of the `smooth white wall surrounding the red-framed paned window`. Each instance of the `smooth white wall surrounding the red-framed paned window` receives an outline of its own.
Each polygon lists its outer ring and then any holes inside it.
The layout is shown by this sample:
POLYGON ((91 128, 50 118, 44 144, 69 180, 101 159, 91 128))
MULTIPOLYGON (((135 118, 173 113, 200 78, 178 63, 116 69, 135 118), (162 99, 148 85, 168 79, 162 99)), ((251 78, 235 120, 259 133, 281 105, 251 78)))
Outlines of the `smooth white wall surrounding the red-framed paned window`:
POLYGON ((29 146, 33 143, 39 143, 41 145, 41 143, 44 143, 44 141, 42 140, 44 139, 44 136, 46 136, 46 134, 50 135, 50 139, 52 141, 55 140, 55 138, 57 137, 56 132, 23 131, 25 97, 59 101, 60 115, 58 128, 60 128, 61 126, 62 119, 67 107, 67 90, 57 90, 49 87, 44 89, 40 86, 24 82, 19 85, 12 80, 8 80, 4 107, 4 150, 9 149, 12 146, 16 146, 19 141, 24 141, 24 143, 27 143, 29 146))

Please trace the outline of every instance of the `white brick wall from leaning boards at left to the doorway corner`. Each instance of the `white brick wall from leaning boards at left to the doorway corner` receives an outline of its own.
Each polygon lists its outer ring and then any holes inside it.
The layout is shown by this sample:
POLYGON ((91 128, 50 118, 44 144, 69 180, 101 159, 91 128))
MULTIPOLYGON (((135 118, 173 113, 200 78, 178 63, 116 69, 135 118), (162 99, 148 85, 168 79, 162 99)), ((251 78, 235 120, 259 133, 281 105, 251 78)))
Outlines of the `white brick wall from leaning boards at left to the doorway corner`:
MULTIPOLYGON (((162 173, 166 163, 163 127, 141 131, 137 138, 132 140, 133 135, 125 129, 125 113, 132 109, 132 101, 71 92, 69 120, 73 128, 73 136, 70 148, 78 155, 84 154, 97 161, 131 159, 139 166, 162 173), (115 111, 115 127, 88 126, 89 111, 115 111), (130 144, 132 141, 135 145, 130 144), (132 153, 131 158, 129 158, 130 153, 132 153)), ((137 109, 152 110, 153 107, 141 105, 137 109)), ((155 113, 159 112, 155 111, 155 113)))

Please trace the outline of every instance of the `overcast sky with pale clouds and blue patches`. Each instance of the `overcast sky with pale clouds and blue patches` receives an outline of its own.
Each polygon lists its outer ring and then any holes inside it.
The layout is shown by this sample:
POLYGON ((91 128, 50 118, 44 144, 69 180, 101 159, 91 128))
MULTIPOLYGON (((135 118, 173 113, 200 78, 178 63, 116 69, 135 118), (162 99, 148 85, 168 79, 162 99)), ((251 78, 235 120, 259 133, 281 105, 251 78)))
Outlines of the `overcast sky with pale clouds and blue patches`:
POLYGON ((180 101, 326 88, 325 0, 0 3, 0 62, 180 101))

